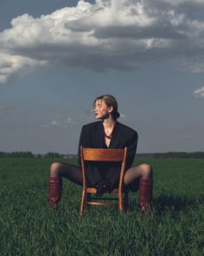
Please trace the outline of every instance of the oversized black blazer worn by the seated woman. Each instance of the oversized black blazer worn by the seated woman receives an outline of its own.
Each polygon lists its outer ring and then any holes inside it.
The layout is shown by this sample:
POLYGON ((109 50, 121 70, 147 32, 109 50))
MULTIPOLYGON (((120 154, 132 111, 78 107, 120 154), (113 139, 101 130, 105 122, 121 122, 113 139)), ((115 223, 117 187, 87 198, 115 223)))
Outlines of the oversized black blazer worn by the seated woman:
MULTIPOLYGON (((86 124, 81 129, 78 160, 80 164, 80 146, 83 148, 105 148, 102 121, 86 124)), ((131 167, 137 151, 137 132, 132 128, 118 122, 112 134, 109 148, 127 147, 127 160, 125 169, 131 167)), ((92 187, 101 180, 109 179, 112 188, 118 186, 120 164, 115 162, 89 162, 87 164, 87 178, 92 187)))

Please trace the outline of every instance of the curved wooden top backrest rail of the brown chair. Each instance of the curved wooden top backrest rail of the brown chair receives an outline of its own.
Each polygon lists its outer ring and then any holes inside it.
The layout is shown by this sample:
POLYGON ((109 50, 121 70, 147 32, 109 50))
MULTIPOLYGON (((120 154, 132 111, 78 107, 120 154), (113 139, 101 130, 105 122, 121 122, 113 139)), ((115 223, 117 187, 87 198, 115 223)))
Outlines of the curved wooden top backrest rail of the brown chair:
POLYGON ((82 148, 81 158, 84 161, 125 161, 127 148, 104 149, 82 148))

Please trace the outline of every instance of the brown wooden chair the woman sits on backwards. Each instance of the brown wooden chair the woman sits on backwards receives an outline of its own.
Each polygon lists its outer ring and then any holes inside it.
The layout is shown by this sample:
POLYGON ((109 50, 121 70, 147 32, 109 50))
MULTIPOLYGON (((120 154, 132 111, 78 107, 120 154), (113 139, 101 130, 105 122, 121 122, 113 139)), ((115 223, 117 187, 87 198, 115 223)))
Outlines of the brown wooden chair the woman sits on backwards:
POLYGON ((128 208, 128 192, 123 190, 123 181, 124 181, 124 165, 126 160, 127 148, 124 149, 103 149, 103 148, 82 148, 80 147, 80 156, 81 156, 81 167, 83 174, 83 193, 80 206, 80 215, 83 214, 85 205, 95 205, 95 206, 112 206, 118 205, 119 211, 122 212, 128 208), (91 198, 92 194, 96 194, 97 190, 94 187, 87 187, 87 178, 86 178, 86 164, 85 161, 120 161, 120 178, 118 188, 113 189, 111 194, 118 194, 117 198, 102 198, 95 197, 91 198), (87 194, 90 195, 89 200, 87 199, 87 194), (123 197, 124 195, 124 197, 123 197), (93 201, 92 201, 93 199, 93 201), (99 202, 96 200, 118 200, 116 202, 99 202))

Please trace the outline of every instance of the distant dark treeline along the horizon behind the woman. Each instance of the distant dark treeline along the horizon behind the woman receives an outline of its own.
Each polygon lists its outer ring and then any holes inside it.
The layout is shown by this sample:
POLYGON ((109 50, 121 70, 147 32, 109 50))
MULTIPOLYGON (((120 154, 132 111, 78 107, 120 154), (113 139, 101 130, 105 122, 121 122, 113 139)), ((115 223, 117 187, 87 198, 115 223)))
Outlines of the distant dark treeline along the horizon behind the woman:
MULTIPOLYGON (((3 157, 23 157, 23 158, 76 158, 77 154, 59 154, 48 152, 48 154, 33 154, 32 152, 0 152, 0 158, 3 157)), ((137 154, 139 158, 197 158, 204 159, 204 152, 168 152, 153 154, 137 154)))

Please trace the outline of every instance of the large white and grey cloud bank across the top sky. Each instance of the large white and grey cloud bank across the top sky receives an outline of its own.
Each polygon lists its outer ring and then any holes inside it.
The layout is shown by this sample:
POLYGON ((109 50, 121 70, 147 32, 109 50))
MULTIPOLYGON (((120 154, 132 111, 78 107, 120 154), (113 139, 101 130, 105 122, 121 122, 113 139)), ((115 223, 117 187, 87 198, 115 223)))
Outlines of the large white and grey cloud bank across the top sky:
POLYGON ((45 64, 136 69, 157 59, 201 57, 201 14, 201 0, 97 0, 39 18, 17 16, 0 33, 0 82, 45 64))

